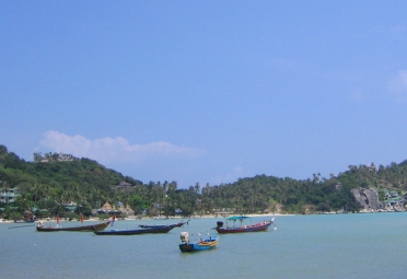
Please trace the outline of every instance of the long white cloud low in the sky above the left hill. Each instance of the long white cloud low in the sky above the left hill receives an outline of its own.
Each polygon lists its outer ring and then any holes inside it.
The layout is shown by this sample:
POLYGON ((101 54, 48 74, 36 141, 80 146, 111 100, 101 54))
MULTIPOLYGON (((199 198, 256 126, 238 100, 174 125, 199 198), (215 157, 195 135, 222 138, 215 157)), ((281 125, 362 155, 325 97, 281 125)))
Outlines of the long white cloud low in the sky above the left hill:
POLYGON ((47 152, 62 152, 77 158, 89 158, 103 164, 114 162, 142 163, 162 158, 193 159, 201 155, 203 150, 177 147, 159 141, 146 144, 130 144, 121 137, 88 139, 83 136, 68 136, 59 131, 47 131, 40 140, 47 152))

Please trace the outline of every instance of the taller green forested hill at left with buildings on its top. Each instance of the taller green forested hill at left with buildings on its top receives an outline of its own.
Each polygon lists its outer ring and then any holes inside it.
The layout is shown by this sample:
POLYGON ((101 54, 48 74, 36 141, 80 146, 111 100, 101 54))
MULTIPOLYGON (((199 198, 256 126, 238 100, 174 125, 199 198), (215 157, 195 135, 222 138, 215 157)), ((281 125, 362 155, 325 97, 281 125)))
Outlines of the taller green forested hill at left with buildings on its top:
POLYGON ((112 187, 123 182, 142 185, 90 159, 58 161, 58 154, 47 154, 42 162, 26 162, 0 146, 0 189, 7 193, 18 188, 20 195, 14 202, 0 201, 0 208, 18 206, 25 210, 39 205, 49 209, 55 204, 73 201, 85 205, 89 211, 106 201, 114 202, 112 187))

